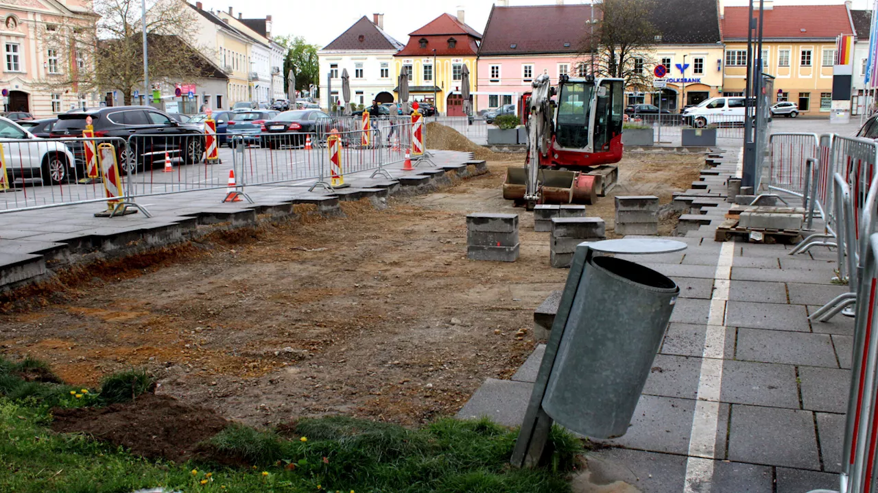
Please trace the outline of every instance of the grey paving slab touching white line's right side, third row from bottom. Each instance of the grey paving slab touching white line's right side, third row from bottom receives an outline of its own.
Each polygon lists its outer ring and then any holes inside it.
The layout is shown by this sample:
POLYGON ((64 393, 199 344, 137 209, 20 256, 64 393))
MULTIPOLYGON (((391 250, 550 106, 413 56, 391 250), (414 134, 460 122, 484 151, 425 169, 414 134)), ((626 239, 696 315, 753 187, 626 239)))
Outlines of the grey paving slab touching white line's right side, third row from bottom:
POLYGON ((723 361, 720 401, 799 409, 792 365, 723 361))

